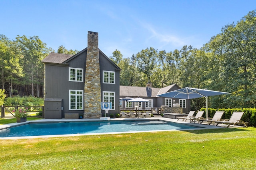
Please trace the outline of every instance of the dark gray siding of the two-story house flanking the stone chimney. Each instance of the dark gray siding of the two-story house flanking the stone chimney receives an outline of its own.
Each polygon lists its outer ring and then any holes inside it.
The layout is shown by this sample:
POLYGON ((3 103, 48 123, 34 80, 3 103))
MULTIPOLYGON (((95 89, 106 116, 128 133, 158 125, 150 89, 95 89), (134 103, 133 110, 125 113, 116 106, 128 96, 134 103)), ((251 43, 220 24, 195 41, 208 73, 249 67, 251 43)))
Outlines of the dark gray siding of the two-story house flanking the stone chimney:
MULTIPOLYGON (((119 104, 119 82, 120 82, 120 72, 115 73, 116 84, 103 84, 102 83, 102 72, 103 70, 107 71, 116 71, 116 66, 114 66, 110 60, 106 58, 102 53, 99 54, 100 57, 100 79, 101 79, 101 94, 102 91, 112 91, 116 92, 115 99, 115 109, 114 111, 109 111, 109 113, 118 113, 118 104, 119 104)), ((74 110, 70 111, 69 106, 69 90, 84 90, 84 82, 72 82, 68 81, 69 67, 74 68, 83 68, 84 69, 84 78, 85 78, 85 67, 86 67, 86 51, 78 53, 74 58, 71 58, 66 64, 48 64, 45 65, 45 74, 46 74, 46 86, 45 86, 45 98, 60 98, 62 100, 63 110, 62 118, 64 118, 64 113, 79 113, 83 115, 83 110, 74 110)), ((101 97, 102 100, 102 97, 101 97)), ((45 102, 45 107, 47 103, 45 102)), ((105 111, 102 111, 105 113, 105 111)), ((52 117, 55 117, 54 115, 52 117)), ((51 117, 48 117, 49 119, 51 117)))

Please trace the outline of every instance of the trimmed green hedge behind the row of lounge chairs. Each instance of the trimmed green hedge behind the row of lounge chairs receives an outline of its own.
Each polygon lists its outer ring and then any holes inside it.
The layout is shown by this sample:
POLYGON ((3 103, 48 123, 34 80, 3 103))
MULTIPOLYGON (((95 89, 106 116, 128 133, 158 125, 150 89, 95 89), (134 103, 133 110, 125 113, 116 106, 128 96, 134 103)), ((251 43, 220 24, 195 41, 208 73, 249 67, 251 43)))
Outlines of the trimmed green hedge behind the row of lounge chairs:
MULTIPOLYGON (((206 108, 201 108, 200 111, 206 112, 206 108)), ((216 111, 224 111, 222 119, 230 119, 234 111, 243 111, 244 114, 241 120, 249 122, 249 126, 256 127, 256 108, 235 108, 235 109, 212 109, 208 108, 208 117, 213 117, 216 111)), ((206 118, 206 115, 204 114, 206 118)))

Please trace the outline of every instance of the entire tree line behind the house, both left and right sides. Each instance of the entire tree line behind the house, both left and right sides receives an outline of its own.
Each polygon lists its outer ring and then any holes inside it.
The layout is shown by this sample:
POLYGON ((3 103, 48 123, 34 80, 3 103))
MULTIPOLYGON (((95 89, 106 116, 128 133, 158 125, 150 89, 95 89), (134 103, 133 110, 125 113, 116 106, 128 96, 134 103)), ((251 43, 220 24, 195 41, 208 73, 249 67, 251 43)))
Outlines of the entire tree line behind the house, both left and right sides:
MULTIPOLYGON (((212 96, 209 105, 222 107, 255 107, 256 103, 256 12, 251 11, 236 23, 222 27, 200 49, 185 45, 166 52, 153 47, 124 58, 116 50, 110 56, 121 69, 120 85, 162 88, 171 84, 230 92, 212 96)), ((10 40, 0 35, 0 88, 8 96, 43 96, 43 64, 51 48, 38 36, 17 36, 10 40)), ((58 53, 76 54, 59 46, 58 53)), ((205 106, 204 98, 192 100, 192 109, 205 106)))

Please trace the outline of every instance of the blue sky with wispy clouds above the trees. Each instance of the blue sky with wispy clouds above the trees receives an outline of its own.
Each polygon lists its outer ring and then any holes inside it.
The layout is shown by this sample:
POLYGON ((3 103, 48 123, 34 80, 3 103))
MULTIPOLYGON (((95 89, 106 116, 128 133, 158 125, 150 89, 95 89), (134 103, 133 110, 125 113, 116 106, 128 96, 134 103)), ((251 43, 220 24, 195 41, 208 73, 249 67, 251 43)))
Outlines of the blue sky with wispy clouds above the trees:
POLYGON ((200 48, 255 9, 256 0, 0 0, 0 34, 81 51, 94 31, 108 57, 116 49, 131 57, 149 47, 200 48))

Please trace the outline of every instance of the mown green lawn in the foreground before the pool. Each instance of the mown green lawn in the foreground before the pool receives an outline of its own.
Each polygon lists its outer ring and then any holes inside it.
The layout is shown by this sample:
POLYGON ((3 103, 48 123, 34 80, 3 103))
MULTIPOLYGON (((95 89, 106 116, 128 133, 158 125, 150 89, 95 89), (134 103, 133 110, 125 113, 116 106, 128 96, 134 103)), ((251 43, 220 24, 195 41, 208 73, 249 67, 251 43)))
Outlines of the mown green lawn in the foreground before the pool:
POLYGON ((256 128, 1 140, 3 170, 256 169, 256 128))

